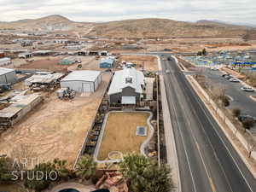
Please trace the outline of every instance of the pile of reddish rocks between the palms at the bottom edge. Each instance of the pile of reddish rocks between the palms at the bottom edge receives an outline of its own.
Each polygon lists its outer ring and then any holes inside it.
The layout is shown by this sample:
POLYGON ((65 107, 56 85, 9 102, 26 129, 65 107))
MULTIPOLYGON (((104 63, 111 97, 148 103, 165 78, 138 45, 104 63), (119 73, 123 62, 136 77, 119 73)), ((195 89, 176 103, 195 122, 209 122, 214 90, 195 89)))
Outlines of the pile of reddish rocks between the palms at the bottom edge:
POLYGON ((96 183, 96 189, 110 189, 114 192, 128 192, 125 179, 119 172, 106 172, 96 183))

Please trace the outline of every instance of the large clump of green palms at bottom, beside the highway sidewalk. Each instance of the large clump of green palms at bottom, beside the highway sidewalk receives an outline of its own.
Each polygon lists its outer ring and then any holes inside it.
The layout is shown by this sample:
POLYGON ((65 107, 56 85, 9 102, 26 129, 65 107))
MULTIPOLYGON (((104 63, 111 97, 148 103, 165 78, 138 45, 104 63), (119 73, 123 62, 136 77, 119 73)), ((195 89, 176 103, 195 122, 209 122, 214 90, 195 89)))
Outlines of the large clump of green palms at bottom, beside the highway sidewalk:
POLYGON ((170 169, 142 154, 126 154, 119 167, 131 191, 168 192, 174 188, 170 169))

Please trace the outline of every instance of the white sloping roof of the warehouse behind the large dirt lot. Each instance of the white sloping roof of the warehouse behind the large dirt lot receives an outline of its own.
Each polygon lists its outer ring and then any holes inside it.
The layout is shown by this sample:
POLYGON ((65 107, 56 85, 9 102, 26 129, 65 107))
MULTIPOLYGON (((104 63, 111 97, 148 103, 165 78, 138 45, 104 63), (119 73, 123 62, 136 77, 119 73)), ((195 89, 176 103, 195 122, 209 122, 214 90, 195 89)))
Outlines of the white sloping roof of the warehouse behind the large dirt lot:
POLYGON ((91 70, 79 70, 69 73, 65 78, 61 79, 63 81, 91 81, 95 82, 97 77, 101 74, 100 71, 91 70))

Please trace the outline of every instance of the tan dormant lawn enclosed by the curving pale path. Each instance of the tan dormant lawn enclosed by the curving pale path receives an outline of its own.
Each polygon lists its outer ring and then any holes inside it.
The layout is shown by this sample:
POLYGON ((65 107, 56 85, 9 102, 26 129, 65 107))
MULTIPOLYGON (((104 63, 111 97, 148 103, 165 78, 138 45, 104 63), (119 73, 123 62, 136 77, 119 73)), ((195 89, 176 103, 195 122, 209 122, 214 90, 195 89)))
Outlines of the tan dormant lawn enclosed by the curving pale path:
POLYGON ((107 159, 111 151, 120 151, 123 154, 133 151, 139 153, 146 137, 136 136, 137 126, 148 127, 148 116, 148 113, 110 113, 98 160, 107 159))

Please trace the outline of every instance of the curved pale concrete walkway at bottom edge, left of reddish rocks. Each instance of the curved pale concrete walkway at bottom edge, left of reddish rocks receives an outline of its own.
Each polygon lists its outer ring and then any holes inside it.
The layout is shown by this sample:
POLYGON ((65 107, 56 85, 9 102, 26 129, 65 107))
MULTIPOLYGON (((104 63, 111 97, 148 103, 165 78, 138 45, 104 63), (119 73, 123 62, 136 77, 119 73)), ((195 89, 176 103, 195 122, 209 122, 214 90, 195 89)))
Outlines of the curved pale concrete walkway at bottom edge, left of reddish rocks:
POLYGON ((67 182, 56 185, 53 189, 50 189, 49 191, 45 192, 59 192, 62 189, 76 189, 79 192, 90 192, 95 190, 96 188, 94 185, 84 185, 81 183, 67 182))

